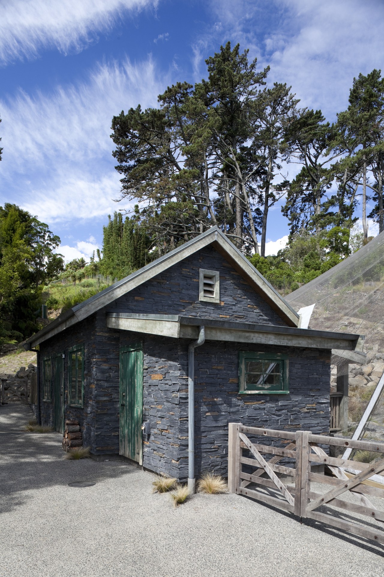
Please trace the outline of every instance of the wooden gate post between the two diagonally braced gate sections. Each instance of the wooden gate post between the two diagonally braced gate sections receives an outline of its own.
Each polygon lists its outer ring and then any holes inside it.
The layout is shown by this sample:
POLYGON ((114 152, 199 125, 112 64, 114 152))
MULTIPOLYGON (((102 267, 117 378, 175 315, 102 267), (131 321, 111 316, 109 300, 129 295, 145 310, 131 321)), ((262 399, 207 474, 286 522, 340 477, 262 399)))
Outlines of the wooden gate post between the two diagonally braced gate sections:
POLYGON ((310 431, 296 431, 296 472, 295 472, 295 507, 294 514, 306 517, 306 505, 309 495, 310 445, 308 437, 310 431))

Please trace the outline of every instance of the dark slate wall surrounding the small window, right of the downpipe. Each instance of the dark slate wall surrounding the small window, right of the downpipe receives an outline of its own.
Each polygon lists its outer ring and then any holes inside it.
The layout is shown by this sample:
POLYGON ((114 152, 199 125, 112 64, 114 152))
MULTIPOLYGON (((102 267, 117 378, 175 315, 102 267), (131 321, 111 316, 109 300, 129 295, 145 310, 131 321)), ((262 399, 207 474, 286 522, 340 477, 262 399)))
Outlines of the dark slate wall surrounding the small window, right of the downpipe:
MULTIPOLYGON (((180 357, 187 365, 187 353, 180 357)), ((210 470, 227 475, 228 423, 241 422, 279 430, 329 431, 330 351, 244 343, 206 342, 195 350, 195 474, 210 470), (288 395, 239 395, 238 352, 289 355, 288 395)), ((180 399, 181 418, 188 398, 180 399)), ((180 422, 188 435, 188 421, 180 422)), ((184 430, 184 433, 183 433, 184 430)), ((179 476, 188 477, 180 463, 179 476)))

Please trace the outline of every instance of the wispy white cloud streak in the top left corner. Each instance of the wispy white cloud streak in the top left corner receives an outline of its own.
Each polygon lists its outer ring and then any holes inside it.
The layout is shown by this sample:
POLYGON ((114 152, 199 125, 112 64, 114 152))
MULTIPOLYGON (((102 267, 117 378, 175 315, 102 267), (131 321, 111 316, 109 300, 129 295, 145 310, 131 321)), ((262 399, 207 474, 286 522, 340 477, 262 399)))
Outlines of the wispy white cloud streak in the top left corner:
POLYGON ((79 51, 117 18, 157 0, 13 0, 0 3, 0 62, 33 58, 41 48, 79 51))

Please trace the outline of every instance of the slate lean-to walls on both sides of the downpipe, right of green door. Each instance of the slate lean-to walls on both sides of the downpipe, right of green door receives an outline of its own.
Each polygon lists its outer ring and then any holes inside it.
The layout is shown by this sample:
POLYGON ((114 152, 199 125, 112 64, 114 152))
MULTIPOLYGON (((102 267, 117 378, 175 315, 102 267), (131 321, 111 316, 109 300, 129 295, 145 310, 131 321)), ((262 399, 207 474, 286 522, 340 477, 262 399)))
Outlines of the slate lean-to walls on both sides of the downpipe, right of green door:
MULTIPOLYGON (((143 466, 188 478, 188 344, 121 331, 143 342, 143 466)), ((228 423, 313 433, 329 430, 330 351, 206 342, 195 351, 195 474, 227 475, 228 423), (288 395, 239 395, 239 351, 289 355, 288 395)))

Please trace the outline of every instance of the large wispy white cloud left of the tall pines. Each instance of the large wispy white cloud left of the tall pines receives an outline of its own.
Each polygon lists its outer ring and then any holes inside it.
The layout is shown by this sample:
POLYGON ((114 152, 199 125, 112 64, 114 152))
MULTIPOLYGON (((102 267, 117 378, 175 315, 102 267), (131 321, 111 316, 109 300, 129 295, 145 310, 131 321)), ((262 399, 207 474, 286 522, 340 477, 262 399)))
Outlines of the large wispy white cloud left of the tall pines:
POLYGON ((50 94, 20 92, 0 102, 0 203, 13 197, 48 223, 127 207, 113 202, 120 176, 112 158, 111 120, 139 103, 155 106, 167 80, 158 80, 151 58, 135 65, 126 60, 97 66, 82 84, 50 94))

